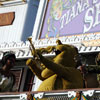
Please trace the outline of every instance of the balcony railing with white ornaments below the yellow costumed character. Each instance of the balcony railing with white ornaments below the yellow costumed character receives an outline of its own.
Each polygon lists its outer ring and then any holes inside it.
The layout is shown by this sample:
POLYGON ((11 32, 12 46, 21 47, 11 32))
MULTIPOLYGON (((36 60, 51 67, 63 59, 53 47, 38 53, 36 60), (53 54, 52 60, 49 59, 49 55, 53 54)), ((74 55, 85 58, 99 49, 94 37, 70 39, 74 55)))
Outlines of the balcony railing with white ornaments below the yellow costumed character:
MULTIPOLYGON (((71 100, 76 91, 82 91, 87 100, 100 100, 99 89, 57 90, 47 92, 11 92, 0 93, 0 100, 71 100)), ((85 100, 85 99, 84 99, 85 100)))

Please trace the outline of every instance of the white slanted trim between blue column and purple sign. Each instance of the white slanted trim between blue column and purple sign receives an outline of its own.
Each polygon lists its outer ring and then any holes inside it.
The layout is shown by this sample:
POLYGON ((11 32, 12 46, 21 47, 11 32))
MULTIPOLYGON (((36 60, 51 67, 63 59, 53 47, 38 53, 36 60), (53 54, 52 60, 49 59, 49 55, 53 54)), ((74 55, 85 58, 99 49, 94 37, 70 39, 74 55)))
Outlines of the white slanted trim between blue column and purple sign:
POLYGON ((36 20, 35 20, 35 24, 34 24, 34 29, 33 29, 33 33, 32 33, 33 41, 39 39, 47 3, 48 3, 48 0, 40 0, 38 12, 37 12, 37 16, 36 16, 36 20))

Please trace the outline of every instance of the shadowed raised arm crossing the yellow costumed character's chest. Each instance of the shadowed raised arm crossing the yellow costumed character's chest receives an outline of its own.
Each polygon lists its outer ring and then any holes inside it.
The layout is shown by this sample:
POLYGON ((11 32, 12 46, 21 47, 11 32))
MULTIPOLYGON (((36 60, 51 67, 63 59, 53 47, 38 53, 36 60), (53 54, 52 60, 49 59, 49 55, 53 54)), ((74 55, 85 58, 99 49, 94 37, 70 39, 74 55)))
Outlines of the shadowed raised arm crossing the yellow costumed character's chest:
POLYGON ((79 75, 79 70, 72 68, 72 67, 65 67, 60 64, 56 64, 52 62, 51 60, 43 57, 41 54, 39 54, 42 63, 50 70, 55 72, 55 74, 63 77, 64 79, 67 79, 69 81, 74 80, 74 74, 75 77, 79 75))

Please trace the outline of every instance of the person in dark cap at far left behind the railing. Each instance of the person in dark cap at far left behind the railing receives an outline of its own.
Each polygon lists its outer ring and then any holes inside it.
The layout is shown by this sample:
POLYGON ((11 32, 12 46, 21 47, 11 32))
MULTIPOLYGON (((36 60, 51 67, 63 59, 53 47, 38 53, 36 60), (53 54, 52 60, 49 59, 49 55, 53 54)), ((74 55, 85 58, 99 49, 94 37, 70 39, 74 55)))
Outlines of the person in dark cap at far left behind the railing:
POLYGON ((12 52, 4 52, 2 57, 2 68, 0 69, 0 92, 16 91, 14 88, 15 75, 11 69, 15 65, 15 54, 12 52))

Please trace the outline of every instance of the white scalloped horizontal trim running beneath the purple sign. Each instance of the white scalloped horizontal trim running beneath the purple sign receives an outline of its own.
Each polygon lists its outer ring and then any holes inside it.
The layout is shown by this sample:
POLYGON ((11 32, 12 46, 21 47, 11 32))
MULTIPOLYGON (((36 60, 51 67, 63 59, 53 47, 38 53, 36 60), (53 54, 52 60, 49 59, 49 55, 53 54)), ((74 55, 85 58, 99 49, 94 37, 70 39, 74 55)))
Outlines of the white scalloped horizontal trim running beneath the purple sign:
MULTIPOLYGON (((33 41, 35 48, 45 48, 47 46, 54 46, 56 45, 56 40, 58 38, 52 39, 43 39, 43 40, 36 40, 33 41)), ((85 46, 82 41, 79 41, 77 37, 62 37, 59 38, 63 44, 71 44, 78 48, 79 53, 91 53, 91 52, 99 52, 100 46, 85 46), (74 40, 77 39, 78 41, 75 42, 74 40)), ((86 40, 89 41, 89 40, 86 40)), ((5 51, 13 51, 16 54, 17 59, 26 59, 31 58, 31 51, 29 49, 30 43, 29 41, 26 42, 12 42, 12 43, 3 43, 0 44, 0 59, 2 58, 3 52, 5 51)), ((54 53, 45 54, 44 56, 52 56, 54 53)))

